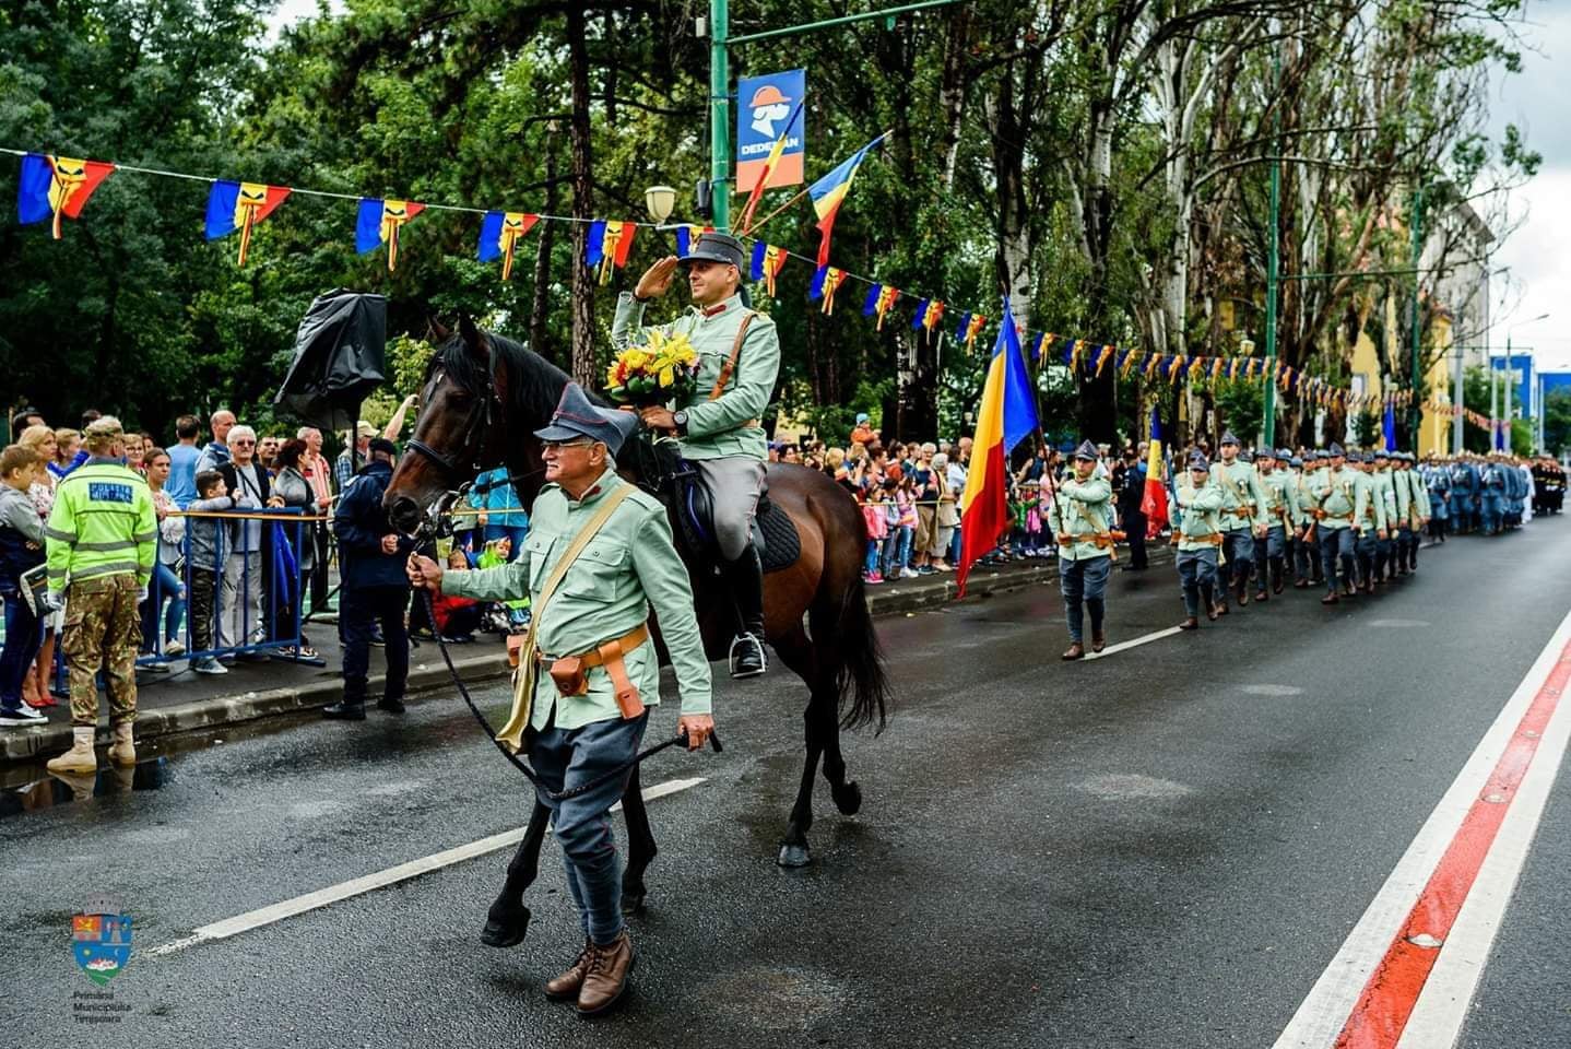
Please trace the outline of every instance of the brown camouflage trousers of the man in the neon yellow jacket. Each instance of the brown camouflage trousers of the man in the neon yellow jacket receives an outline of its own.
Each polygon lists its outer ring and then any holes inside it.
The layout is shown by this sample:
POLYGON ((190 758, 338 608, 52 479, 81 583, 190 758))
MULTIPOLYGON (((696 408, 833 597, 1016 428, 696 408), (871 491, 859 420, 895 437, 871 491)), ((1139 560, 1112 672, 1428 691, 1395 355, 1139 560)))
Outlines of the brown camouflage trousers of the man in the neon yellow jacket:
POLYGON ((137 719, 137 576, 105 575, 71 584, 60 650, 71 671, 71 724, 97 726, 97 672, 104 669, 110 724, 137 719))

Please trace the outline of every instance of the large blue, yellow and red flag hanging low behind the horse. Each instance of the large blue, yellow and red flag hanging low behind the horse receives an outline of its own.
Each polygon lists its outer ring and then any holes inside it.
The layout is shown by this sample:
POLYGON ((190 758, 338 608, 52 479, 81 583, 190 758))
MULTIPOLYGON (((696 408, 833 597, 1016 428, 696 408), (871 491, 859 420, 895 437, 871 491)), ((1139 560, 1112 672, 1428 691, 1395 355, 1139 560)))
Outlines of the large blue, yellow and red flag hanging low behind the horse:
POLYGON ((1010 526, 1009 454, 1037 430, 1037 391, 1020 350, 1015 314, 1004 300, 1004 322, 993 342, 993 361, 982 383, 977 432, 971 446, 971 473, 960 496, 960 570, 955 581, 966 595, 966 576, 977 557, 998 545, 1010 526))

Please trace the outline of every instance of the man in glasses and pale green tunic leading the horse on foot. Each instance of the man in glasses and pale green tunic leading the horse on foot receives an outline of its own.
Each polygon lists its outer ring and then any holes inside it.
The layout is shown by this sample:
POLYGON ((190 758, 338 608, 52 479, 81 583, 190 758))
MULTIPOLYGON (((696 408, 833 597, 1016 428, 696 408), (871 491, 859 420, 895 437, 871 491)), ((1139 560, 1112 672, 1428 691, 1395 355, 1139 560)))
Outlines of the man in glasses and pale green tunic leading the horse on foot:
POLYGON ((567 383, 544 443, 547 485, 534 503, 517 561, 482 572, 445 572, 410 556, 408 578, 434 594, 479 600, 528 595, 534 620, 518 664, 512 716, 498 740, 526 749, 544 784, 540 801, 562 846, 584 947, 545 985, 580 1016, 610 1010, 627 988, 633 944, 622 923, 622 867, 606 818, 632 774, 630 762, 660 702, 660 658, 650 608, 682 693, 679 729, 698 749, 715 727, 710 677, 693 614, 687 568, 671 543, 666 510, 616 474, 611 455, 636 426, 627 411, 597 408, 567 383), (621 776, 566 799, 564 782, 621 776))

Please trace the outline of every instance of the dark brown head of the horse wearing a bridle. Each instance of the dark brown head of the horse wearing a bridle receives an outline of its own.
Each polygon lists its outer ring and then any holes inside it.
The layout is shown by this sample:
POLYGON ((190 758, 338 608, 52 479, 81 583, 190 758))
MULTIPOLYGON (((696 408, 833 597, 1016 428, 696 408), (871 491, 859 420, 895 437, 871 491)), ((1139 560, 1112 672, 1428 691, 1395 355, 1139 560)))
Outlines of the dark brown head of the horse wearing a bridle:
POLYGON ((506 389, 490 339, 468 317, 457 331, 432 323, 432 333, 438 345, 419 391, 415 437, 382 499, 388 521, 407 535, 435 534, 463 488, 503 459, 506 389))

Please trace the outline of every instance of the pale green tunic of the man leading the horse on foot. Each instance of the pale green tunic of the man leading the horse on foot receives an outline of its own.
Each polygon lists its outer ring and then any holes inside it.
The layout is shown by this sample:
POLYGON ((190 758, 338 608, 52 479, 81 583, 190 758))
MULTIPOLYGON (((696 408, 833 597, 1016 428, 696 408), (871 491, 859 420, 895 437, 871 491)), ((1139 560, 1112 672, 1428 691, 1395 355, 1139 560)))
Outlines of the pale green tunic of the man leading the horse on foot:
MULTIPOLYGON (((578 559, 567 568, 550 603, 540 608, 540 590, 573 537, 594 517, 606 496, 627 482, 606 470, 572 499, 559 485, 548 484, 534 501, 523 553, 509 565, 479 572, 448 572, 441 592, 482 601, 504 601, 529 595, 540 622, 536 628, 539 652, 547 658, 581 655, 606 641, 630 633, 649 619, 650 608, 660 620, 660 634, 671 652, 671 663, 682 693, 683 715, 712 710, 709 663, 698 619, 693 614, 693 587, 687 567, 671 545, 666 510, 654 496, 633 488, 578 559)), ((644 705, 660 702, 660 660, 654 641, 646 641, 624 656, 628 680, 644 705)), ((621 718, 616 688, 603 666, 591 667, 586 696, 558 696, 545 672, 534 686, 529 724, 544 729, 551 707, 558 729, 581 729, 595 721, 621 718)))

